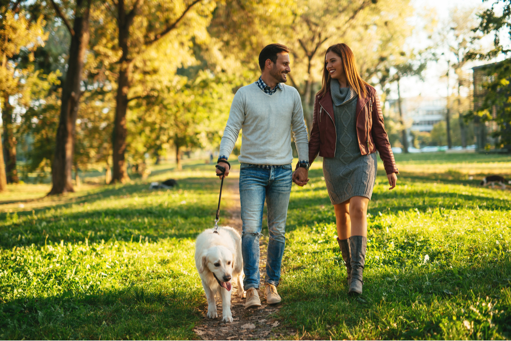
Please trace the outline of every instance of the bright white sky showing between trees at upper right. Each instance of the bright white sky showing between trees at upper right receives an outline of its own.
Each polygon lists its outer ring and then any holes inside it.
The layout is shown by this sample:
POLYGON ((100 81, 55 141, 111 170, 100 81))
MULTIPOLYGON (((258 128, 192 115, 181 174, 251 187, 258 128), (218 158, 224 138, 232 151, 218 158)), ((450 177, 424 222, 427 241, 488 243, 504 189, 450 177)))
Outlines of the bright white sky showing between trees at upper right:
MULTIPOLYGON (((493 1, 482 2, 482 0, 412 0, 412 4, 416 11, 423 10, 426 6, 436 10, 438 21, 447 20, 449 16, 449 9, 455 6, 458 7, 477 7, 483 8, 490 7, 493 1)), ((419 16, 415 16, 412 20, 420 21, 419 16)), ((485 40, 485 44, 490 44, 492 37, 485 40)), ((415 39, 416 44, 421 44, 421 39, 415 39)), ((482 64, 487 64, 491 61, 476 61, 468 65, 468 69, 482 64)), ((401 96, 402 98, 414 97, 418 95, 428 97, 445 97, 447 95, 447 79, 445 77, 447 71, 447 61, 440 60, 438 62, 428 63, 428 67, 424 73, 425 80, 420 81, 416 77, 403 79, 401 82, 401 96)), ((453 72, 451 72, 451 75, 453 72)), ((450 87, 454 87, 456 80, 450 77, 450 87)), ((449 90, 452 93, 452 90, 449 90)), ((391 93, 389 98, 397 98, 397 84, 392 84, 391 93)))

